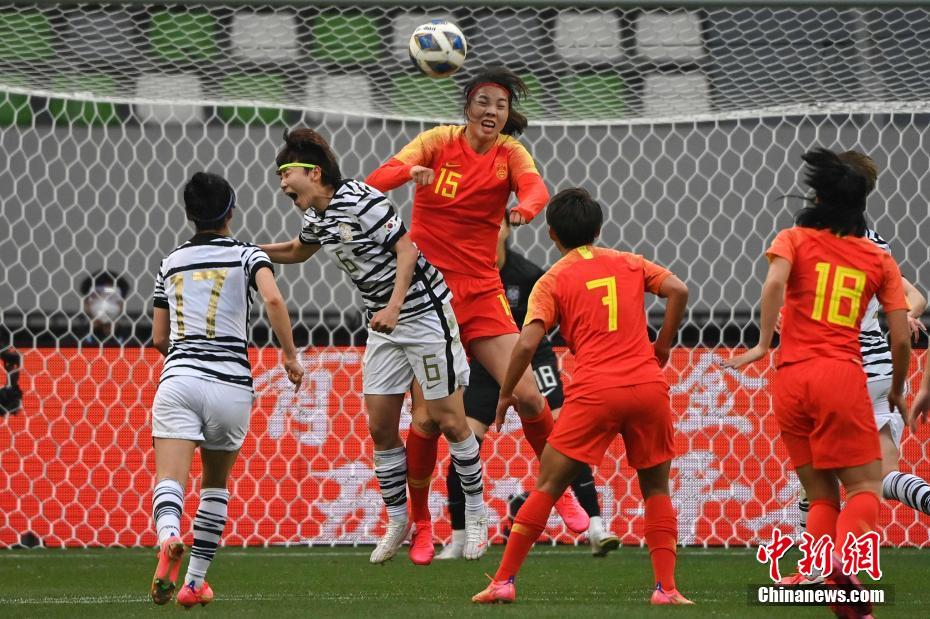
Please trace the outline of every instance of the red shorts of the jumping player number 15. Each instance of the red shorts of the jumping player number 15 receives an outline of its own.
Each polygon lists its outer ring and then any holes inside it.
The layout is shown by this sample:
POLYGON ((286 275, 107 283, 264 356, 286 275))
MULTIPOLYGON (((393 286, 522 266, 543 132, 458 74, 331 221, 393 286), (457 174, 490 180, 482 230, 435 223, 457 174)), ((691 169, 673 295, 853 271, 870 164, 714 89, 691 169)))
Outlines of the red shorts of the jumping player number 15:
POLYGON ((447 275, 445 280, 452 290, 452 311, 466 351, 471 353, 470 344, 480 337, 520 332, 499 277, 472 279, 447 275))

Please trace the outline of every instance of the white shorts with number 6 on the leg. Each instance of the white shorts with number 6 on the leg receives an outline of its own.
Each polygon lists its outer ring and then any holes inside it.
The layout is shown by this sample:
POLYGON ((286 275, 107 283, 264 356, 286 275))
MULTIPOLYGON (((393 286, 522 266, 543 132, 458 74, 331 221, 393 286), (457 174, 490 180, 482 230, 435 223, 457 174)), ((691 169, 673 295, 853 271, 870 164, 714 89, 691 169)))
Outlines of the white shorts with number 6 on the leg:
POLYGON ((468 385, 468 358, 449 303, 401 322, 390 335, 368 330, 362 362, 366 395, 406 393, 416 377, 427 400, 468 385))

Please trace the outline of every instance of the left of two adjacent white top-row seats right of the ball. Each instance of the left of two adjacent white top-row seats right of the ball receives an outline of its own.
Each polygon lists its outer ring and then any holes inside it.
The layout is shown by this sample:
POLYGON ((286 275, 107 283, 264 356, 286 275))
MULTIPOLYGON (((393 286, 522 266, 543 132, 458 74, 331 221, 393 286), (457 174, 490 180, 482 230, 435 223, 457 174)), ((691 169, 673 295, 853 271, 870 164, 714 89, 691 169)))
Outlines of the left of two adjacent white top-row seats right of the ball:
POLYGON ((623 57, 620 18, 562 11, 555 22, 555 49, 570 63, 616 62, 623 57))

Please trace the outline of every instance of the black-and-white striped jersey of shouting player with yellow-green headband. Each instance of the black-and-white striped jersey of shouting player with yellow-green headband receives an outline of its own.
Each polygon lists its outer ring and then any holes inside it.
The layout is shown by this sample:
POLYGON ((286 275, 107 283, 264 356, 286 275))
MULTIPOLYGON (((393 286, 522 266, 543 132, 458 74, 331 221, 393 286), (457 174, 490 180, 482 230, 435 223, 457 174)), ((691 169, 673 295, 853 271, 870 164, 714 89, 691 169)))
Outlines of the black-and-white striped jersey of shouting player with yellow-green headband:
MULTIPOLYGON (((307 209, 300 240, 321 245, 358 288, 368 311, 374 313, 391 298, 397 278, 397 256, 391 250, 406 232, 403 220, 383 193, 365 183, 344 180, 325 211, 307 209)), ((401 308, 401 321, 430 311, 436 299, 445 302, 452 298, 442 273, 423 254, 417 258, 417 270, 418 277, 401 308)))

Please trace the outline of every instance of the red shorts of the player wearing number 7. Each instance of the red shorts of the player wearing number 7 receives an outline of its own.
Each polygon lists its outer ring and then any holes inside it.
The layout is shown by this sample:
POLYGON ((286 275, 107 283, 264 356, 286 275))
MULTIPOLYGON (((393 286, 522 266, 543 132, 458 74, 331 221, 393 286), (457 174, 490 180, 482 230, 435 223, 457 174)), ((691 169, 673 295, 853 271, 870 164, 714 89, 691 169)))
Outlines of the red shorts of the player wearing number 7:
POLYGON ((618 434, 634 469, 648 469, 675 457, 675 428, 666 383, 569 395, 548 442, 572 460, 597 466, 618 434))

